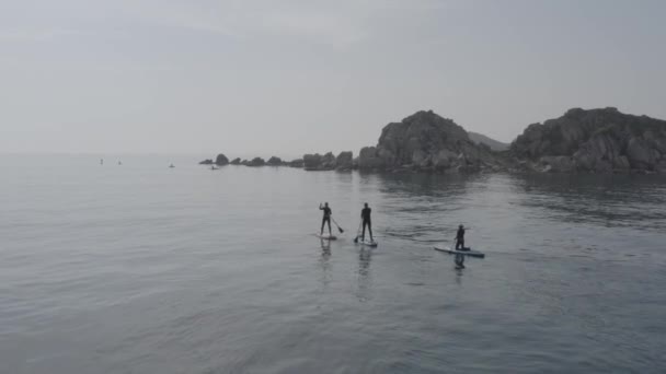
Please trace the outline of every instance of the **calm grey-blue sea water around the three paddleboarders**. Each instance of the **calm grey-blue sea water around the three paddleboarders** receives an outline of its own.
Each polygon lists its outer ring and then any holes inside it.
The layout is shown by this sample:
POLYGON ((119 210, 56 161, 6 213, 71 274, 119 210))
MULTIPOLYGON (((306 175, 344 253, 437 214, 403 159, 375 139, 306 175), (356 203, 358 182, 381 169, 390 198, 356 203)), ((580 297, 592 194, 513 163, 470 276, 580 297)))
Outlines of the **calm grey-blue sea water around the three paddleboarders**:
POLYGON ((115 160, 0 157, 0 373, 666 370, 662 177, 115 160))

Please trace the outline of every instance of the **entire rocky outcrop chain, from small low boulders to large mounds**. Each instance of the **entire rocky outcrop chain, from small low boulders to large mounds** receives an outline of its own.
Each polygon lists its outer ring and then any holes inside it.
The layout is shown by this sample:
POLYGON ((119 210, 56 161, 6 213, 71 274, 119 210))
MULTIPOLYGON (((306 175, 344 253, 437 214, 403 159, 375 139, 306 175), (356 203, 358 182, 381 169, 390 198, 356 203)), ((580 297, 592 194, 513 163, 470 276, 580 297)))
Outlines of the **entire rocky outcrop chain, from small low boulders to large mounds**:
POLYGON ((289 166, 306 171, 427 173, 666 173, 666 121, 617 108, 573 108, 529 125, 510 144, 468 132, 453 120, 421 110, 381 131, 377 145, 334 155, 250 161, 225 154, 205 165, 289 166))

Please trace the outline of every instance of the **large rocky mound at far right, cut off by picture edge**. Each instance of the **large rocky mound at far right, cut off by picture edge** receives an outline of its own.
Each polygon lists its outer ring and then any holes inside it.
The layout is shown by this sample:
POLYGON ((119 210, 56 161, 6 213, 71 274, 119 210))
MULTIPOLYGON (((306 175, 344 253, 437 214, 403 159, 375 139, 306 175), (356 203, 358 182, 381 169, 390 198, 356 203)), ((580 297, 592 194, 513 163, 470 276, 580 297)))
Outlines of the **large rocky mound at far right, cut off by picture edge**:
POLYGON ((666 121, 608 107, 530 125, 510 147, 528 171, 666 173, 666 121))

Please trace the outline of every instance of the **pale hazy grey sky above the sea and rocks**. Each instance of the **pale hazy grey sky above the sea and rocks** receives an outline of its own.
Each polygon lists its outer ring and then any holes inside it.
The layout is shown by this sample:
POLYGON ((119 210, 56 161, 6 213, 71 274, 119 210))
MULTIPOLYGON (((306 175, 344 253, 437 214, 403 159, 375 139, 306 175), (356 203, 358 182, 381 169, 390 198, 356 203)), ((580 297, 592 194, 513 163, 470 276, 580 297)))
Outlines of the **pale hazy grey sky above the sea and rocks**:
POLYGON ((433 109, 513 140, 666 118, 666 1, 0 0, 0 152, 358 152, 433 109))

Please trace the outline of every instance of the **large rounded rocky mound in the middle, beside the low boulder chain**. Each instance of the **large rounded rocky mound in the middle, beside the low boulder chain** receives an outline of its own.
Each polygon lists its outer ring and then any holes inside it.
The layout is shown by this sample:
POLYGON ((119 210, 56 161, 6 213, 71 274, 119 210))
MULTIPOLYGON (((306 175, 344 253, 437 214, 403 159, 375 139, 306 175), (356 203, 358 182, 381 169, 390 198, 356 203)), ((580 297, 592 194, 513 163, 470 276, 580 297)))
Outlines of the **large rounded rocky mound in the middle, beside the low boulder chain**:
POLYGON ((452 120, 422 110, 387 125, 377 147, 361 149, 357 162, 361 170, 468 173, 500 170, 500 159, 452 120))

